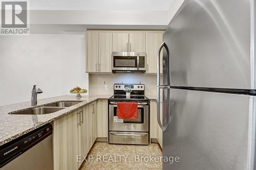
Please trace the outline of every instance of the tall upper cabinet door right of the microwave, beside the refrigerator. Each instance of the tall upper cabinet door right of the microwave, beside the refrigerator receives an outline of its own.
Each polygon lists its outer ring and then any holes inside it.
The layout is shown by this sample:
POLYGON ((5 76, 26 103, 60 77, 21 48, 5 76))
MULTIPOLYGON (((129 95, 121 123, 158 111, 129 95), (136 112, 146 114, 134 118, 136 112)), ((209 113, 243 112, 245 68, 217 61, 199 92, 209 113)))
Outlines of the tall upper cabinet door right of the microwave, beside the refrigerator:
MULTIPOLYGON (((163 42, 163 33, 146 33, 146 73, 157 73, 157 53, 163 42)), ((163 53, 161 53, 161 61, 163 53)), ((160 72, 163 72, 162 62, 160 72)))

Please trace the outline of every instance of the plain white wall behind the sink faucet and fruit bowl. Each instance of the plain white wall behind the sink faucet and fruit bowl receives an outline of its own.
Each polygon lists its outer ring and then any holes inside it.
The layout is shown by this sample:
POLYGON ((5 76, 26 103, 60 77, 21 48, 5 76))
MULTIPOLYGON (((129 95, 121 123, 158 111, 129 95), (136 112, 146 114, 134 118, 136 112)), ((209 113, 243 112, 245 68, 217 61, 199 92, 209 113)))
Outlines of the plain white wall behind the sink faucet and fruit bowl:
POLYGON ((0 106, 68 94, 74 86, 88 89, 84 35, 0 36, 0 106))

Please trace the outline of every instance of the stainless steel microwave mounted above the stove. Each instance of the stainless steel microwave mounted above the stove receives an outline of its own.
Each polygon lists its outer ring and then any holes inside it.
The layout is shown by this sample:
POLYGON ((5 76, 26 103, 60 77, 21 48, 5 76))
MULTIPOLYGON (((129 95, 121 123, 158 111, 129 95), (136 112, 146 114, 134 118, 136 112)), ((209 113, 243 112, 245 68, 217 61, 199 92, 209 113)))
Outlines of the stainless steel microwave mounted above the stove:
POLYGON ((146 53, 113 52, 112 72, 145 72, 146 53))

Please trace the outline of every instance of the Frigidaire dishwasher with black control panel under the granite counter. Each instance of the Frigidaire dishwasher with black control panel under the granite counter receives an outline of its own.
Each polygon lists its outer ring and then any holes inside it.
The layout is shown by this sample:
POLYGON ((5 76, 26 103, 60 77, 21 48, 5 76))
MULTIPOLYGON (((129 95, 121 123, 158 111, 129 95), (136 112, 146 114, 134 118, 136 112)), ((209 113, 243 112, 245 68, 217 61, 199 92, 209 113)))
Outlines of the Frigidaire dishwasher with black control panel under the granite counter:
POLYGON ((47 124, 0 147, 0 167, 7 169, 53 169, 52 125, 47 124))

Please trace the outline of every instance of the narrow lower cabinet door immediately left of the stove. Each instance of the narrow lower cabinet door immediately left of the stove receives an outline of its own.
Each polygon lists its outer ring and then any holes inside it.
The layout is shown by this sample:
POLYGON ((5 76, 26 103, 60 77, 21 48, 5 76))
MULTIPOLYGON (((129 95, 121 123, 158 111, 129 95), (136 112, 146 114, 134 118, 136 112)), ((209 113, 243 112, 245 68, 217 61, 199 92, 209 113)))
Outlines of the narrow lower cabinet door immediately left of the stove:
POLYGON ((98 100, 97 137, 108 137, 108 100, 98 100))

